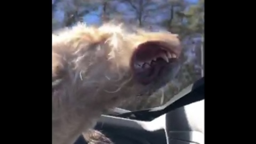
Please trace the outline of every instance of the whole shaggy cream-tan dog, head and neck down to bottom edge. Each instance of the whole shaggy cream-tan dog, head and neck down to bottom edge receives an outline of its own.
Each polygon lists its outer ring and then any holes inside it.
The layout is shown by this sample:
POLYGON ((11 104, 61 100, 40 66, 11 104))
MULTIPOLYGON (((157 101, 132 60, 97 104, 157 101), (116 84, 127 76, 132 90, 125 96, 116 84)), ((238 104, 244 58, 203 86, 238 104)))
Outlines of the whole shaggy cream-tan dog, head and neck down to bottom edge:
POLYGON ((149 96, 179 69, 177 35, 82 23, 52 35, 52 143, 72 144, 102 113, 149 96))

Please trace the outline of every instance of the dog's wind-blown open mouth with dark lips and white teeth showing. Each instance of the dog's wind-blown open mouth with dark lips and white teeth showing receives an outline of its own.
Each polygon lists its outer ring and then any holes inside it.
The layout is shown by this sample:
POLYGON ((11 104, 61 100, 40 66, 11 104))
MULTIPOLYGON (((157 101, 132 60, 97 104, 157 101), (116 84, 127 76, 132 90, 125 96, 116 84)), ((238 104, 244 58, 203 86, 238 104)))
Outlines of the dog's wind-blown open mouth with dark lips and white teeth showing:
POLYGON ((179 55, 163 42, 147 42, 140 44, 132 58, 132 69, 135 78, 141 84, 149 84, 160 78, 165 67, 177 60, 179 55))

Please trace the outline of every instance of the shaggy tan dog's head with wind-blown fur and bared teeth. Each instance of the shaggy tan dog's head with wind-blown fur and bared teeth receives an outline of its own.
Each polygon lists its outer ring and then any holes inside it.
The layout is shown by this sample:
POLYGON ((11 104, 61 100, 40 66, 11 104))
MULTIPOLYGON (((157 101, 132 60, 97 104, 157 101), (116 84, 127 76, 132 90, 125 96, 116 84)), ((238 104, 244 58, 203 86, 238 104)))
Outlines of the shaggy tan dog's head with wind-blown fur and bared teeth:
POLYGON ((62 94, 86 95, 101 105, 151 95, 177 74, 180 53, 180 41, 171 33, 78 25, 53 37, 52 73, 61 77, 62 94))

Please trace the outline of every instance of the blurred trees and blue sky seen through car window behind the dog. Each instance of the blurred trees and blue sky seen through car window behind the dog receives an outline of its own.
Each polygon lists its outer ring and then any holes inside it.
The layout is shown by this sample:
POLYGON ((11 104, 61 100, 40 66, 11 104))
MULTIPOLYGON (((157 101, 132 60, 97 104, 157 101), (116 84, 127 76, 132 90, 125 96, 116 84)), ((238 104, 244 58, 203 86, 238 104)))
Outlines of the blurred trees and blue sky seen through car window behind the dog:
POLYGON ((52 16, 53 31, 79 21, 101 25, 115 20, 179 35, 182 65, 175 79, 151 97, 136 97, 119 108, 134 111, 161 106, 204 75, 204 0, 52 0, 52 16))

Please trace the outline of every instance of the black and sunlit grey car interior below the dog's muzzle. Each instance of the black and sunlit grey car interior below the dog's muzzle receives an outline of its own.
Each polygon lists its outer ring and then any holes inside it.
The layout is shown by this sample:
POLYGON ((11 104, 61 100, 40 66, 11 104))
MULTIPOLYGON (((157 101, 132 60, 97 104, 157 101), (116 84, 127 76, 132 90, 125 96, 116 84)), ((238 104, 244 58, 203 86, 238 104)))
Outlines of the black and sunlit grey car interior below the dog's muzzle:
POLYGON ((204 77, 161 107, 102 115, 94 129, 115 144, 203 144, 204 77))

